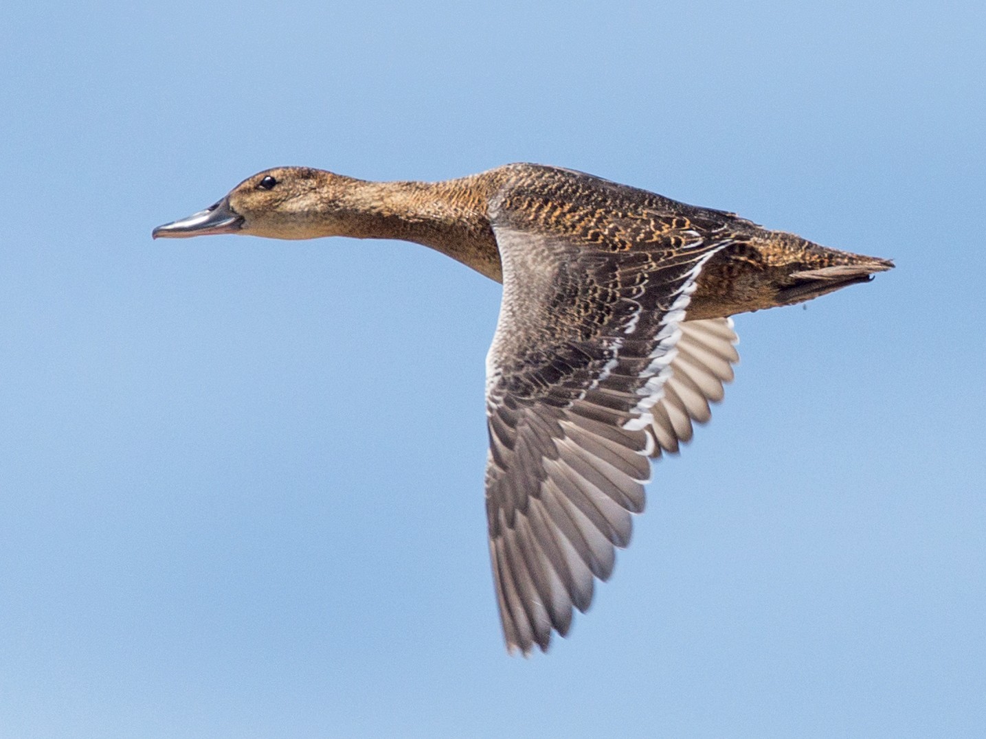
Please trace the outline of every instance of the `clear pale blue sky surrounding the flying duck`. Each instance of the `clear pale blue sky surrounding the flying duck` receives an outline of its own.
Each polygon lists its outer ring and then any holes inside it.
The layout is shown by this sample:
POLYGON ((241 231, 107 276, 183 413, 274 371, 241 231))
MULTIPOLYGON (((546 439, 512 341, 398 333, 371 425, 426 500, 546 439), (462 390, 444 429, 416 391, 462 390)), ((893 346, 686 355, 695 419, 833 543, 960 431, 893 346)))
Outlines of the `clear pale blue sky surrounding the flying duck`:
POLYGON ((0 736, 986 735, 986 6, 6 3, 0 736), (500 287, 152 241, 254 171, 578 168, 897 269, 741 315, 568 639, 486 549, 500 287))

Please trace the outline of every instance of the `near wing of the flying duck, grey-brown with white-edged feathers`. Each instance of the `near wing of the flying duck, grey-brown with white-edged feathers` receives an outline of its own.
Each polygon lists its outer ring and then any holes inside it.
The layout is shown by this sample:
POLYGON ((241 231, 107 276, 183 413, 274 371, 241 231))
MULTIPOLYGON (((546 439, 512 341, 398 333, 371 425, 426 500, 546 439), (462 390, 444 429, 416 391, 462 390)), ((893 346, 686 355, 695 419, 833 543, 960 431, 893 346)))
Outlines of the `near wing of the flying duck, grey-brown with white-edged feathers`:
POLYGON ((492 213, 504 294, 487 357, 486 511, 504 635, 528 653, 568 632, 629 543, 678 323, 727 242, 680 219, 627 248, 574 207, 551 229, 520 208, 492 213))

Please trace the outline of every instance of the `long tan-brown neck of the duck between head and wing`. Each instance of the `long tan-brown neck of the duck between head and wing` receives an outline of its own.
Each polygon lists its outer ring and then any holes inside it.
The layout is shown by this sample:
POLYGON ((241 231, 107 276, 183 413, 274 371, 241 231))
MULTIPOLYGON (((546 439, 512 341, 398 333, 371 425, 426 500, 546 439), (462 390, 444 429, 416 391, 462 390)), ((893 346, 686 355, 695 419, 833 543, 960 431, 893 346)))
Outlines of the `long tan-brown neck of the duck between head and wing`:
POLYGON ((487 189, 476 176, 442 182, 347 178, 332 204, 335 233, 414 241, 499 281, 500 254, 487 215, 487 189))

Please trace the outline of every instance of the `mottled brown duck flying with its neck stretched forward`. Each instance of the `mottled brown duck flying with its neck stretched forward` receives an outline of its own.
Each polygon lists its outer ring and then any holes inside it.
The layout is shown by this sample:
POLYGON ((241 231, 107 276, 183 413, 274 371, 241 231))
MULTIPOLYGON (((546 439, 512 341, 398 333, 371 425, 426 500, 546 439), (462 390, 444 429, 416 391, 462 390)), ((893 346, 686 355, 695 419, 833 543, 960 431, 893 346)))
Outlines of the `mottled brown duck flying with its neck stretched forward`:
POLYGON ((401 239, 503 284, 486 357, 490 561, 508 652, 585 612, 739 361, 732 316, 869 282, 893 262, 567 168, 437 182, 317 168, 247 177, 153 237, 401 239))

